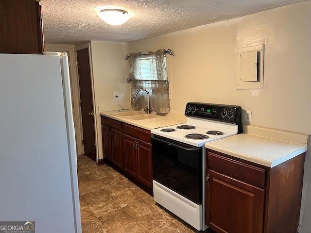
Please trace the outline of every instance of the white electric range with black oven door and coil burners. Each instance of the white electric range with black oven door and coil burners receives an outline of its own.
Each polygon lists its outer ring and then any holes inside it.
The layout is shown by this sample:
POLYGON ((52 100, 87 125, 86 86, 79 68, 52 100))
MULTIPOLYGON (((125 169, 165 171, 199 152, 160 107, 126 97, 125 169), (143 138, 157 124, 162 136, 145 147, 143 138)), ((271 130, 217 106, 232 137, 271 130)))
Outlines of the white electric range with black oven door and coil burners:
POLYGON ((204 144, 242 133, 242 109, 190 102, 185 115, 184 124, 151 131, 154 200, 197 230, 206 230, 204 144))

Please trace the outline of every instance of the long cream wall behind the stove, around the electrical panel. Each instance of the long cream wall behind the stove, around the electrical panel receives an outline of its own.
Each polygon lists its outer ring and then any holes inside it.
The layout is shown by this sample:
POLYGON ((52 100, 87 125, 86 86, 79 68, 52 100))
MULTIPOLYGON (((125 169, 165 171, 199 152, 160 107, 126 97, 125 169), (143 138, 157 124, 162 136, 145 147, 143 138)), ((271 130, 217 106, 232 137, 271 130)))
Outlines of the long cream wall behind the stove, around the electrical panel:
MULTIPOLYGON (((171 48, 171 108, 186 102, 241 105, 252 124, 311 134, 311 1, 129 43, 130 52, 171 48), (237 90, 237 48, 265 44, 264 89, 237 90)), ((300 232, 311 232, 311 153, 300 232)))

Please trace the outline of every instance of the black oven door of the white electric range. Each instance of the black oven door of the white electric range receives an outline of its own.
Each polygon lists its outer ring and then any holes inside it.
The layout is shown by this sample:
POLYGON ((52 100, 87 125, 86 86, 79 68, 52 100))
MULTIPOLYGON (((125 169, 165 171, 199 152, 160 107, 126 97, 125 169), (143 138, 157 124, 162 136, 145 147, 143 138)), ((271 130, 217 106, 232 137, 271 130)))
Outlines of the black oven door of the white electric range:
POLYGON ((202 148, 152 135, 153 178, 181 196, 202 203, 202 148))

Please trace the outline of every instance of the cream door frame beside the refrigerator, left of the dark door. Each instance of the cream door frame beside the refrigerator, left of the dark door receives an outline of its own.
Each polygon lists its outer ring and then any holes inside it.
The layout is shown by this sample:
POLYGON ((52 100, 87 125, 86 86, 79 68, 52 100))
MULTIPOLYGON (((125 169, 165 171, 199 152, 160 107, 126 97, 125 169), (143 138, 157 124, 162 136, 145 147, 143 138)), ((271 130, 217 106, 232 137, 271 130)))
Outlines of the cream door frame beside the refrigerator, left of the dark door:
POLYGON ((72 91, 73 121, 76 134, 77 154, 84 154, 82 115, 80 107, 80 89, 75 45, 70 44, 45 44, 46 51, 66 51, 69 54, 69 74, 72 91))

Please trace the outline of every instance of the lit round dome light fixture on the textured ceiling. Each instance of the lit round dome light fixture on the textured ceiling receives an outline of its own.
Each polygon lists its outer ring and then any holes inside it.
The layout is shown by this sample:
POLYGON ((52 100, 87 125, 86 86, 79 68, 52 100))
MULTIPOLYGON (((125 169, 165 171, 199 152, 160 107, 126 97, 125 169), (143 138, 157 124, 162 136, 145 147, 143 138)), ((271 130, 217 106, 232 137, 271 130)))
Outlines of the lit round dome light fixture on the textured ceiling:
POLYGON ((97 16, 111 25, 121 25, 131 17, 127 11, 121 9, 103 9, 97 16))

